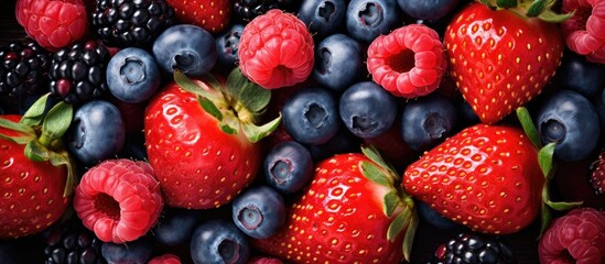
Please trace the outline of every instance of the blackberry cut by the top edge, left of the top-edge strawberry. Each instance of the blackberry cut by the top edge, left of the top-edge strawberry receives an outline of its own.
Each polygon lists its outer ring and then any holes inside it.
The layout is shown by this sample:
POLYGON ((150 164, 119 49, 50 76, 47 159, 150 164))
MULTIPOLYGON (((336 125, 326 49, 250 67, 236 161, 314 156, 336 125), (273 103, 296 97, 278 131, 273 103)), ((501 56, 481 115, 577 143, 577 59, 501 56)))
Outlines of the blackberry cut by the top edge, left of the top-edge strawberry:
POLYGON ((93 28, 109 46, 144 46, 174 23, 164 0, 99 0, 93 28))

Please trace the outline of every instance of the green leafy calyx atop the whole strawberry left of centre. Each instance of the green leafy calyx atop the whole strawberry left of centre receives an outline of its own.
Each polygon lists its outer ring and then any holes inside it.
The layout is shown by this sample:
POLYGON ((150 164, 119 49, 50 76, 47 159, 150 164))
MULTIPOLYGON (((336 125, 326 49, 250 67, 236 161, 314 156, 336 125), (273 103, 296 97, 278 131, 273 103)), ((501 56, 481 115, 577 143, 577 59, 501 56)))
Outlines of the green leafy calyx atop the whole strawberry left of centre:
POLYGON ((242 131, 246 138, 256 143, 271 134, 281 121, 276 119, 257 125, 271 100, 271 91, 250 81, 238 67, 222 85, 213 76, 206 75, 199 84, 190 79, 181 70, 174 70, 174 81, 188 92, 196 95, 199 106, 216 120, 223 132, 237 134, 242 131))

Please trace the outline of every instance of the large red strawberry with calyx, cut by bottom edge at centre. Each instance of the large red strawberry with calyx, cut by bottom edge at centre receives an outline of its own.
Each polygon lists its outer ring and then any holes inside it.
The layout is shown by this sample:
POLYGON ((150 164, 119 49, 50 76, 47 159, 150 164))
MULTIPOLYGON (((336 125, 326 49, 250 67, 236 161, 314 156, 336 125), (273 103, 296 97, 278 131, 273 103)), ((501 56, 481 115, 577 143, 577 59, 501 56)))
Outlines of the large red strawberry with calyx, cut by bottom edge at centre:
POLYGON ((398 177, 375 148, 336 154, 315 168, 284 227, 253 240, 259 251, 296 263, 399 263, 408 258, 417 217, 398 177), (406 246, 402 251, 402 246, 406 246))

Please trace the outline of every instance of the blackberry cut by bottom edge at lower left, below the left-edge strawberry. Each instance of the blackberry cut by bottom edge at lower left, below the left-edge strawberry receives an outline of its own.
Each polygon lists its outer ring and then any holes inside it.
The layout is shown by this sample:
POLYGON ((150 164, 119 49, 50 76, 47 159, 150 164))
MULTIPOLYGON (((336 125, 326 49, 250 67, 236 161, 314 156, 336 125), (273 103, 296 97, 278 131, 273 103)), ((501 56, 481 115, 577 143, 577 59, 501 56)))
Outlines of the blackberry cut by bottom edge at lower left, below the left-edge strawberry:
POLYGON ((100 241, 79 219, 72 219, 48 230, 45 235, 45 264, 104 264, 100 241))

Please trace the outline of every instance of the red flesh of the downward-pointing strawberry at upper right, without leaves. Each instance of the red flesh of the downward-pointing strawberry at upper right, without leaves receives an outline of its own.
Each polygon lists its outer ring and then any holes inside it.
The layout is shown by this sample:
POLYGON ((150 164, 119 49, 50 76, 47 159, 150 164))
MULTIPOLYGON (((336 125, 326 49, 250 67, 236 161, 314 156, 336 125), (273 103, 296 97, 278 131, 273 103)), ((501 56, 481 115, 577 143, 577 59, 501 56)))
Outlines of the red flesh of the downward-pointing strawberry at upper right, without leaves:
POLYGON ((453 18, 444 43, 450 74, 484 123, 500 121, 540 94, 564 47, 555 23, 478 2, 453 18))

